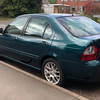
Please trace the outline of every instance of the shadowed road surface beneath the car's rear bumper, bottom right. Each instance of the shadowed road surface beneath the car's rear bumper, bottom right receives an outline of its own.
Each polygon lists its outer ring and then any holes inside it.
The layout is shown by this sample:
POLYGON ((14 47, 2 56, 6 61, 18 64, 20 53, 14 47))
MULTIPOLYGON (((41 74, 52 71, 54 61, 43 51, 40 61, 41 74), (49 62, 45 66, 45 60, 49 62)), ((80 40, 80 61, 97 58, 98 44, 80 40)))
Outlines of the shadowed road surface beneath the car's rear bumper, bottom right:
POLYGON ((90 100, 100 100, 100 82, 90 84, 69 81, 65 88, 90 100))

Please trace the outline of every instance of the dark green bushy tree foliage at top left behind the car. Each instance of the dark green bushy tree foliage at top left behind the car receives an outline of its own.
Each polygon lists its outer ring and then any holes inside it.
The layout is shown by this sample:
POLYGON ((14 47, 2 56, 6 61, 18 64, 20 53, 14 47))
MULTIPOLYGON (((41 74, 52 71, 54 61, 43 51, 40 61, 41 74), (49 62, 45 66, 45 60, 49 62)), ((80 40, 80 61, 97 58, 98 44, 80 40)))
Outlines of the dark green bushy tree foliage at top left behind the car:
POLYGON ((16 17, 21 14, 41 12, 42 0, 4 0, 0 5, 0 14, 16 17))

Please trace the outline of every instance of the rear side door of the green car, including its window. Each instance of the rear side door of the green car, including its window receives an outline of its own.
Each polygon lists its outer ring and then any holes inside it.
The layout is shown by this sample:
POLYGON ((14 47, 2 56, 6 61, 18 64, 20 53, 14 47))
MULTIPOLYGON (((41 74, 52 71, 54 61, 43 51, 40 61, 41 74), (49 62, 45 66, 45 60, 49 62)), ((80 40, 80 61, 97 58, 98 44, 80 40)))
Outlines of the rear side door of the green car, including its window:
POLYGON ((38 66, 39 58, 46 54, 52 43, 52 29, 49 23, 38 17, 31 18, 19 42, 20 60, 38 66))

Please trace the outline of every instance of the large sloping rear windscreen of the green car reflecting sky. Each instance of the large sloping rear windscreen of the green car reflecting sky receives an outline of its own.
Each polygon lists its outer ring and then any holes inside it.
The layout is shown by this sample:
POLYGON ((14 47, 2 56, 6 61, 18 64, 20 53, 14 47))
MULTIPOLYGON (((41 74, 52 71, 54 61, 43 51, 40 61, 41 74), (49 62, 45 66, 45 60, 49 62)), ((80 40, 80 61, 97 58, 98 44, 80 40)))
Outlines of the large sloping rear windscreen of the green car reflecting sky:
POLYGON ((77 37, 100 34, 100 24, 87 17, 61 17, 57 20, 77 37))

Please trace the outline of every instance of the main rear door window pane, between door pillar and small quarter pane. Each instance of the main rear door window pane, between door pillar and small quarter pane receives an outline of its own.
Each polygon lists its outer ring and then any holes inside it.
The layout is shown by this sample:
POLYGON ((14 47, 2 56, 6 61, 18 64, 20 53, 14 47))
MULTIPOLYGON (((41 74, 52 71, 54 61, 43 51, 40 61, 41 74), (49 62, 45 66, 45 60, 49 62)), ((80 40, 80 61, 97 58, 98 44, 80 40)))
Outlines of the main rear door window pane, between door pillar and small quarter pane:
POLYGON ((26 36, 42 37, 47 22, 42 18, 32 18, 26 28, 26 36))

